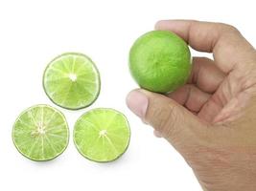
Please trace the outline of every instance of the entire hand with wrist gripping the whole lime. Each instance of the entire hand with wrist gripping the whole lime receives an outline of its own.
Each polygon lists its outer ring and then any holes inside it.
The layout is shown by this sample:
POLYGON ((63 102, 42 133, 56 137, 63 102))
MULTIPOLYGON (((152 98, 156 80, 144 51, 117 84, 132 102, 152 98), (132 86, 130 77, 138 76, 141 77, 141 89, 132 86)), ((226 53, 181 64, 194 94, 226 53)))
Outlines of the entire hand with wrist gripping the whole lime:
POLYGON ((159 21, 193 49, 186 85, 169 95, 128 94, 128 108, 166 138, 191 166, 203 190, 256 188, 256 51, 234 27, 192 20, 159 21))

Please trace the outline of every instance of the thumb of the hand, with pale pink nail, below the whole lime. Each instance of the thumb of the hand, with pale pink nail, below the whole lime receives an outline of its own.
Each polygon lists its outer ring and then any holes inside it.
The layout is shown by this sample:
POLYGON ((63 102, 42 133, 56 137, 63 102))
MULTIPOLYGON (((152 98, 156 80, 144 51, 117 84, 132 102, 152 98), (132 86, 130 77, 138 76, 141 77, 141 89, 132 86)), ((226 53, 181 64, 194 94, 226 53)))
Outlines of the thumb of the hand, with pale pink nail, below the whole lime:
POLYGON ((127 97, 128 108, 149 123, 162 137, 178 147, 199 143, 202 123, 173 99, 146 90, 133 90, 127 97))

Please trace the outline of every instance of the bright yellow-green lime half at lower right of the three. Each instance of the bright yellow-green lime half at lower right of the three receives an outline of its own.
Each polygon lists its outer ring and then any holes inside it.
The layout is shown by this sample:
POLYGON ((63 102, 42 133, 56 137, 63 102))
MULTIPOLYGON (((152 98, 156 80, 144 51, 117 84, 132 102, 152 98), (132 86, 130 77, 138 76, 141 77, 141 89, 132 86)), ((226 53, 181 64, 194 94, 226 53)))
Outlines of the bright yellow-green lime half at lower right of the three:
POLYGON ((77 120, 74 128, 74 141, 81 155, 100 162, 125 153, 129 137, 127 118, 113 109, 91 110, 77 120))

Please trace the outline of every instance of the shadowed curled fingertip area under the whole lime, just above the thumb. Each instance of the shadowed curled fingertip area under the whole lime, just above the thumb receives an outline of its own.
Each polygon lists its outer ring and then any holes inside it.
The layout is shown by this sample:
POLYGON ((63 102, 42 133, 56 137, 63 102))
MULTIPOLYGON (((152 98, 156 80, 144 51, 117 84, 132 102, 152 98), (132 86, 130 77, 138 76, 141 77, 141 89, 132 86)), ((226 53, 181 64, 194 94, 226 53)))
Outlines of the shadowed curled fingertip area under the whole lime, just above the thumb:
POLYGON ((195 85, 186 84, 167 96, 171 97, 191 112, 198 113, 211 95, 202 92, 195 85))

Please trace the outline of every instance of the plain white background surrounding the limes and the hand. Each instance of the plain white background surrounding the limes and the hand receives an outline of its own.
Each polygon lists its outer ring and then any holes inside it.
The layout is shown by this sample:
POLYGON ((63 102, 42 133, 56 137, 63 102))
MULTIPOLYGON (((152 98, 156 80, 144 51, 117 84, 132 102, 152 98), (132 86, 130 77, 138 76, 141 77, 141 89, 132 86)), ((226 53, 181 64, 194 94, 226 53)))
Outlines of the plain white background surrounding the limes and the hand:
MULTIPOLYGON (((200 190, 186 162, 164 139, 133 116, 125 103, 136 88, 128 72, 132 42, 151 31, 159 19, 219 21, 239 28, 256 44, 253 1, 0 0, 0 190, 200 190), (102 91, 89 108, 65 114, 72 134, 82 113, 95 107, 127 115, 131 141, 127 153, 112 163, 83 159, 72 138, 58 159, 35 162, 12 144, 12 123, 45 96, 42 73, 59 53, 81 52, 97 64, 102 91)), ((193 52, 194 55, 198 53, 193 52)))

